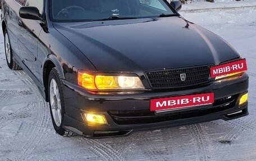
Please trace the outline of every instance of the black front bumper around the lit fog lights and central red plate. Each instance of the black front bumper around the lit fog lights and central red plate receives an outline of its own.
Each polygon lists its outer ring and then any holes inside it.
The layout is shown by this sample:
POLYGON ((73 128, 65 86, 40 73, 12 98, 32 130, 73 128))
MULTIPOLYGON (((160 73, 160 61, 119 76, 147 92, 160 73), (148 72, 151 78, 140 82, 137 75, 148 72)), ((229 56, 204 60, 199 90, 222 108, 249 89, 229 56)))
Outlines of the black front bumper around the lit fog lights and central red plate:
POLYGON ((249 78, 246 73, 239 79, 215 81, 202 88, 145 91, 129 95, 96 95, 65 80, 63 82, 65 84, 63 127, 86 137, 122 136, 132 131, 188 125, 216 119, 230 120, 248 115, 248 103, 239 106, 241 95, 248 91, 249 78), (214 92, 215 101, 212 107, 201 106, 160 115, 150 112, 150 99, 208 92, 214 92), (228 96, 231 98, 226 99, 228 96), (103 114, 108 125, 88 125, 82 117, 83 112, 103 114))

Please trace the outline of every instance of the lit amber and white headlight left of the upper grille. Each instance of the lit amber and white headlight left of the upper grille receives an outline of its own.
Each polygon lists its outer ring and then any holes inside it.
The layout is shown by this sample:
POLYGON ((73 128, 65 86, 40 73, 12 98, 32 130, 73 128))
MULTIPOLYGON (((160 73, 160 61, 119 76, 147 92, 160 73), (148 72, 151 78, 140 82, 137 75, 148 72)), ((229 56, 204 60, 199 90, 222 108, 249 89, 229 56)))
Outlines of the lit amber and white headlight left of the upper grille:
POLYGON ((92 90, 144 89, 138 76, 91 75, 78 71, 77 82, 80 86, 92 90))

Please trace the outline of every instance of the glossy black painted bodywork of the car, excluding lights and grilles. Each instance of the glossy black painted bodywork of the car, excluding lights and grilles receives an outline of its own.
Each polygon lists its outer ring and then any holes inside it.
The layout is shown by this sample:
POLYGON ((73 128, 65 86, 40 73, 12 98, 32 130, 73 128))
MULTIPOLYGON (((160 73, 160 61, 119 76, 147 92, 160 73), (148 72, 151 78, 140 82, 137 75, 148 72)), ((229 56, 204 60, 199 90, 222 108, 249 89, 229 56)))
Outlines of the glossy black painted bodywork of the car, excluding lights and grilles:
POLYGON ((145 77, 145 72, 150 70, 219 65, 238 59, 239 54, 217 35, 179 15, 135 20, 61 23, 51 21, 48 0, 45 0, 45 6, 43 21, 26 20, 18 16, 21 7, 19 3, 15 0, 5 0, 2 26, 7 24, 14 52, 13 59, 35 81, 45 100, 48 98, 47 67, 57 67, 65 84, 63 93, 67 109, 64 126, 68 130, 84 136, 93 136, 94 130, 130 131, 135 128, 144 129, 141 126, 148 129, 224 119, 226 114, 240 109, 245 111, 240 117, 248 114, 247 104, 243 108, 238 108, 236 103, 235 107, 225 112, 209 114, 212 118, 187 118, 185 121, 177 120, 176 123, 163 122, 162 125, 116 125, 107 111, 118 108, 149 110, 150 98, 214 91, 216 99, 219 99, 231 94, 245 93, 248 90, 246 73, 237 80, 221 83, 213 81, 206 87, 179 91, 152 90, 145 77), (145 90, 134 94, 94 94, 77 85, 77 70, 133 73, 143 81, 145 90), (81 117, 82 111, 104 113, 108 122, 112 124, 108 127, 88 126, 81 117))

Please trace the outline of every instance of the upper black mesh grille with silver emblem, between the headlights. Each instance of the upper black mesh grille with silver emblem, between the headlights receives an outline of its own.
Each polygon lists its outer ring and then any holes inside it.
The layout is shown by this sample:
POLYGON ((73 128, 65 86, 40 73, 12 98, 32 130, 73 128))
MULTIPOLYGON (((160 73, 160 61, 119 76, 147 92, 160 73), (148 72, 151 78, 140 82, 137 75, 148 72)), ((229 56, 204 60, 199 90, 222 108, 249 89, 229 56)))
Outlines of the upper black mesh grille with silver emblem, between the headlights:
POLYGON ((211 81, 210 65, 146 72, 152 88, 182 88, 211 81), (186 74, 185 81, 181 74, 186 74))

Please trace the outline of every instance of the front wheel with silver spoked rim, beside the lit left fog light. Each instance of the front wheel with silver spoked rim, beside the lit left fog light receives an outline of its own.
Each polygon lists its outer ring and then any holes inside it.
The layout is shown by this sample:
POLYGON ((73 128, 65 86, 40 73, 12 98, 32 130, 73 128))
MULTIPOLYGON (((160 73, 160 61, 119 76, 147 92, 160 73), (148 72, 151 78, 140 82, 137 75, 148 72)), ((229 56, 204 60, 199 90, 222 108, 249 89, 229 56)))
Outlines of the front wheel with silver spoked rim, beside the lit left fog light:
POLYGON ((49 107, 54 130, 61 136, 72 136, 73 132, 65 130, 63 119, 65 104, 63 102, 63 83, 57 68, 52 68, 48 79, 49 107))

